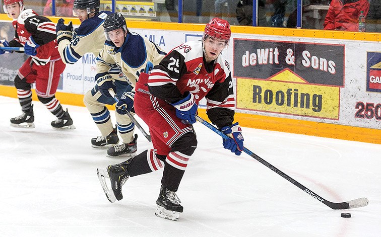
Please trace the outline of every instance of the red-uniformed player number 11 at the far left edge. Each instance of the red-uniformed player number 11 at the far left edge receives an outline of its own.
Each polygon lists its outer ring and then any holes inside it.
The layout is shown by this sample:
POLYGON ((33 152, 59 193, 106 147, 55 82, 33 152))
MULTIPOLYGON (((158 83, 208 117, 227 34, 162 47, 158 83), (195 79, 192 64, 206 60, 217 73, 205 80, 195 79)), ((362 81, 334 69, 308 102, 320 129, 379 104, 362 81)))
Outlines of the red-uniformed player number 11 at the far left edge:
MULTIPOLYGON (((53 128, 74 129, 68 111, 62 109, 55 98, 59 76, 65 69, 56 42, 55 25, 46 17, 38 16, 33 10, 24 10, 23 0, 4 0, 4 11, 13 19, 15 38, 3 45, 24 47, 30 57, 20 67, 15 77, 17 97, 22 115, 12 118, 11 125, 34 127, 31 84, 36 83, 39 101, 57 117, 51 122, 53 128)), ((2 52, 0 52, 2 54, 2 52)))

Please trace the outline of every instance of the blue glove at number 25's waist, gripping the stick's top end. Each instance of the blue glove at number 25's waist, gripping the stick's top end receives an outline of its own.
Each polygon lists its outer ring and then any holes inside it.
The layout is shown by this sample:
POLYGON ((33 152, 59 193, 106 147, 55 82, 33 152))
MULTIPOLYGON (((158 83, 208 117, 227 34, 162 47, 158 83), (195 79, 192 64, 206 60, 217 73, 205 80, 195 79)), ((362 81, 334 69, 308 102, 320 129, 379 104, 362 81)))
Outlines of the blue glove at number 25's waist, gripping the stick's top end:
POLYGON ((176 108, 176 116, 189 123, 196 123, 197 104, 193 94, 189 93, 184 99, 171 104, 176 108))

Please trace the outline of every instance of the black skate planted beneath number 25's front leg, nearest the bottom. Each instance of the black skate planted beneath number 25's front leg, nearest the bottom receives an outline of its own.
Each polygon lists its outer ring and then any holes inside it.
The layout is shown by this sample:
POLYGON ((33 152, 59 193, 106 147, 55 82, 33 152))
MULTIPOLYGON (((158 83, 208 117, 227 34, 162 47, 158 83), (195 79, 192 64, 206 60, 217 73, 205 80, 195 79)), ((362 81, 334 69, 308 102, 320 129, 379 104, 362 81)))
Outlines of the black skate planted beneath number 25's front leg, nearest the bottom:
POLYGON ((172 192, 163 185, 160 188, 159 198, 156 200, 157 209, 155 215, 168 220, 178 220, 183 207, 175 192, 172 192))

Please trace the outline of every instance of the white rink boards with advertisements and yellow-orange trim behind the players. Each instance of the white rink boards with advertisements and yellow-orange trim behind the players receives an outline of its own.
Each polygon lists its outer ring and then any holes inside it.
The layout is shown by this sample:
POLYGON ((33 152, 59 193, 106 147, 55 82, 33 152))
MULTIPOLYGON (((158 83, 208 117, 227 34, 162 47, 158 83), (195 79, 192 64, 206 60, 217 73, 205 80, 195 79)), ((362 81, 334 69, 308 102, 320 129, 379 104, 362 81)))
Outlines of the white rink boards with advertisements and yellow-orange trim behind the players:
MULTIPOLYGON (((4 14, 0 20, 5 20, 0 22, 3 29, 11 25, 4 14)), ((127 24, 165 51, 201 39, 204 29, 199 24, 127 24)), ((231 28, 223 54, 232 71, 241 125, 381 144, 380 34, 231 28)), ((13 37, 13 29, 8 32, 13 37)), ((23 60, 20 54, 2 55, 0 95, 16 97, 10 86, 23 60)), ((67 65, 57 97, 83 106, 83 94, 94 86, 95 74, 92 54, 67 65)), ((205 113, 205 102, 200 107, 205 113)))

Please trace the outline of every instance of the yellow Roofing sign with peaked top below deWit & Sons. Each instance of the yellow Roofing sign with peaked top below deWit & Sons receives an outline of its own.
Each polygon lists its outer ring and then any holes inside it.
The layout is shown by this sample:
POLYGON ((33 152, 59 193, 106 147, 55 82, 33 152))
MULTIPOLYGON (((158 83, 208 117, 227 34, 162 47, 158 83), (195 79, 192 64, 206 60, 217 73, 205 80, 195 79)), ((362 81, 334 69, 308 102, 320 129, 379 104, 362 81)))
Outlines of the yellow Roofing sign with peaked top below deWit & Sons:
POLYGON ((237 78, 237 108, 339 119, 340 88, 310 85, 292 71, 268 80, 237 78))

